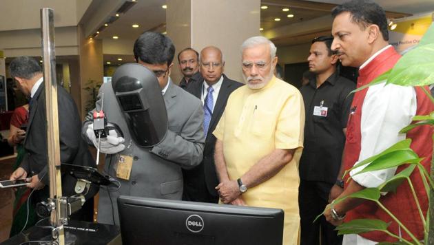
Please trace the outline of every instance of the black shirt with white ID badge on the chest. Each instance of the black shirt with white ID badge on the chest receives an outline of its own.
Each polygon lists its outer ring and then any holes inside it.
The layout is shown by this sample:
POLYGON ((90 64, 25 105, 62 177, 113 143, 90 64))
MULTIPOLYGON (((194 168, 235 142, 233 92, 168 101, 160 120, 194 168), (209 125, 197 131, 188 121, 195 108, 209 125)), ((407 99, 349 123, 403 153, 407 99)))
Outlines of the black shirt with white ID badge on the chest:
POLYGON ((304 100, 306 124, 304 149, 300 159, 302 180, 324 181, 334 184, 338 177, 345 135, 355 83, 337 72, 316 87, 316 78, 309 80, 300 92, 304 100), (327 114, 314 115, 315 107, 327 108, 327 114))

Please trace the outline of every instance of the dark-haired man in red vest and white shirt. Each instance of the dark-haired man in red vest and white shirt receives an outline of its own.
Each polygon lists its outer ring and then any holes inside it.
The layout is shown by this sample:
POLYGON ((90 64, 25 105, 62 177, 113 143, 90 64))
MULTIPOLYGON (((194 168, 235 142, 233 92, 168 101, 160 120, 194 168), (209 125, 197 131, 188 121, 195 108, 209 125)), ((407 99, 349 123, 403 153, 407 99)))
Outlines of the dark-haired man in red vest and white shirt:
MULTIPOLYGON (((334 36, 331 49, 338 53, 344 66, 359 67, 357 87, 361 87, 380 76, 400 59, 400 54, 389 45, 389 33, 384 10, 378 4, 367 0, 353 0, 337 6, 332 11, 334 36)), ((433 130, 429 126, 416 127, 407 134, 399 134, 400 129, 409 125, 415 115, 426 115, 434 110, 420 87, 402 87, 381 83, 355 93, 351 105, 351 115, 347 125, 347 140, 344 149, 344 169, 378 154, 400 140, 411 138, 411 149, 425 157, 422 164, 429 171, 432 156, 433 130)), ((338 197, 378 187, 389 180, 403 167, 380 171, 370 171, 355 175, 363 169, 353 169, 351 180, 345 183, 344 191, 338 197)), ((415 187, 422 211, 426 215, 428 198, 419 171, 413 171, 411 181, 415 187)), ((396 193, 386 193, 380 198, 386 206, 409 228, 417 239, 424 237, 422 220, 407 182, 403 182, 396 193)), ((348 198, 343 202, 326 207, 326 219, 333 225, 356 219, 378 219, 391 222, 389 231, 411 240, 409 234, 374 202, 348 198)), ((377 244, 395 242, 397 239, 379 231, 360 235, 344 235, 343 244, 377 244)))

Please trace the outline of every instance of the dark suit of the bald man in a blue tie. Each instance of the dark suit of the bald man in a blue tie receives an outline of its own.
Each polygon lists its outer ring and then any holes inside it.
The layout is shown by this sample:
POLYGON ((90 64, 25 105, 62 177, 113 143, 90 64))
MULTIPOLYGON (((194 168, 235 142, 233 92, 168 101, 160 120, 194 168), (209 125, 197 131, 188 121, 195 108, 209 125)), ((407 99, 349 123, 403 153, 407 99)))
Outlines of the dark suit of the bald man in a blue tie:
MULTIPOLYGON (((197 98, 202 95, 204 81, 192 83, 185 90, 197 98)), ((207 137, 205 139, 205 149, 203 150, 203 160, 198 167, 194 169, 183 169, 184 175, 184 193, 183 200, 194 202, 218 202, 218 193, 216 186, 218 185, 218 177, 216 166, 214 164, 214 147, 216 145, 216 137, 212 134, 220 120, 220 117, 225 111, 227 98, 231 92, 241 87, 243 84, 233 81, 223 74, 223 83, 218 92, 216 105, 212 112, 211 121, 207 137)))

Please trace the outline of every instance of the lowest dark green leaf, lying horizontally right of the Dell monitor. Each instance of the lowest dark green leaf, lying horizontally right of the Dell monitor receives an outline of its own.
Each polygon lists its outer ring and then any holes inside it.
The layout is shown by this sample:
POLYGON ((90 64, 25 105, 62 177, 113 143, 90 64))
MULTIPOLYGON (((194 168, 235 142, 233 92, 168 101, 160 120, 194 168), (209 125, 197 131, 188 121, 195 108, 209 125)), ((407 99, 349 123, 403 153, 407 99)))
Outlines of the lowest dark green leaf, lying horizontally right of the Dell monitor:
POLYGON ((390 224, 382 220, 359 219, 342 223, 336 227, 336 230, 338 230, 338 235, 360 234, 369 231, 387 231, 390 224))

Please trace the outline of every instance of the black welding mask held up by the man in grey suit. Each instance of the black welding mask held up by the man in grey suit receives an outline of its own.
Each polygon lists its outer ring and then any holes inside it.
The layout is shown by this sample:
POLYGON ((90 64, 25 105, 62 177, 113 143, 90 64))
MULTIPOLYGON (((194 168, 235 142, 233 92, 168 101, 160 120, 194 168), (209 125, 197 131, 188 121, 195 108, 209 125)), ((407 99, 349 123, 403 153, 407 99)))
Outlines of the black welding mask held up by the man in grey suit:
POLYGON ((161 142, 167 132, 167 111, 154 72, 137 63, 121 65, 112 87, 136 145, 153 147, 161 142))

